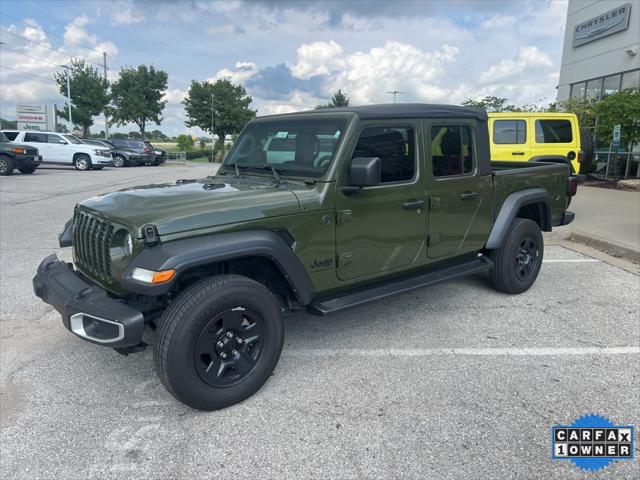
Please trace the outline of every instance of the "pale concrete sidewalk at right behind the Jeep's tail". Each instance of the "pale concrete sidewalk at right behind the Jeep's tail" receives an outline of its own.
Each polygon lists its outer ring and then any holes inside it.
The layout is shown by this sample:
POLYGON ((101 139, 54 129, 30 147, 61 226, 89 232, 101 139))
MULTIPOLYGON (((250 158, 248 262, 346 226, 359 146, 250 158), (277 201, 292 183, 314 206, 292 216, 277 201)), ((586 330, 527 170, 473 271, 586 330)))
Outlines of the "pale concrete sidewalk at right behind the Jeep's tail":
POLYGON ((569 210, 576 219, 557 229, 563 238, 640 262, 640 192, 581 186, 569 210))

